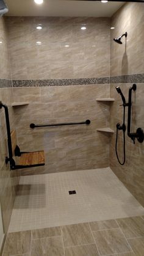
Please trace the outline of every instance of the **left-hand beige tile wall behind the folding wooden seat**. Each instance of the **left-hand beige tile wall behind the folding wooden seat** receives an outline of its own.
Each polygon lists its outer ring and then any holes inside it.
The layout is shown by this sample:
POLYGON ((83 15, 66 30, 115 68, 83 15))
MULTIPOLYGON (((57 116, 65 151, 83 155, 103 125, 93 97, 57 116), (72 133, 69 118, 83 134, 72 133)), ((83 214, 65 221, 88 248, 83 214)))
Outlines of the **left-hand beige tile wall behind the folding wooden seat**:
MULTIPOLYGON (((0 18, 0 41, 2 42, 0 44, 0 79, 10 79, 7 29, 3 18, 0 18)), ((15 127, 15 117, 13 115, 13 109, 10 106, 13 101, 12 88, 0 88, 0 101, 9 106, 10 123, 13 129, 15 127)), ((0 109, 0 200, 5 233, 9 227, 15 200, 16 185, 18 184, 18 174, 16 172, 10 172, 9 164, 5 164, 5 156, 7 156, 6 137, 5 115, 4 109, 2 108, 0 109)))

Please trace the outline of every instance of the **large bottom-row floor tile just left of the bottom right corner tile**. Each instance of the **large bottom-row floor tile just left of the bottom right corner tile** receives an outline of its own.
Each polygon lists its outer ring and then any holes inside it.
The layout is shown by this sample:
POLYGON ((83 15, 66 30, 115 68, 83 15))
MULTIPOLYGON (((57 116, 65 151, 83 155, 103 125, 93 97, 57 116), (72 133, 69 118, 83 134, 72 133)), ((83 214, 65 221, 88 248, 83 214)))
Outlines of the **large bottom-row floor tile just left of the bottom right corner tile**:
POLYGON ((128 242, 120 229, 93 232, 100 255, 131 252, 128 242))

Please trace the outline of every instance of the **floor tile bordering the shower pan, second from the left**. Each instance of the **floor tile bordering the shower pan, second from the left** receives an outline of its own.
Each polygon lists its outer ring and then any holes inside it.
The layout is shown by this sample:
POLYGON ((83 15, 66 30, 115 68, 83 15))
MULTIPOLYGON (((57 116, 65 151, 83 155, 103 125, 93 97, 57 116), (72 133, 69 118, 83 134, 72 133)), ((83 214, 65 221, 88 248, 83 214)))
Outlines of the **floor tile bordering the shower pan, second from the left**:
POLYGON ((46 238, 49 236, 60 236, 60 227, 49 227, 48 229, 35 229, 32 230, 32 239, 46 238))

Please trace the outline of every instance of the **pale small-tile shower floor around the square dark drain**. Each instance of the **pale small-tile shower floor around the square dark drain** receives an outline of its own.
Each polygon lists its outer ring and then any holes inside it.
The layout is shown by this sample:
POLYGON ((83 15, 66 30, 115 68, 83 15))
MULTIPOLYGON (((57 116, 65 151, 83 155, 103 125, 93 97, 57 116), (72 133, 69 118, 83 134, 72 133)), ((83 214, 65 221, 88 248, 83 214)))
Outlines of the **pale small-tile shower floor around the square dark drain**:
POLYGON ((31 175, 20 178, 9 232, 142 215, 144 208, 109 167, 31 175))

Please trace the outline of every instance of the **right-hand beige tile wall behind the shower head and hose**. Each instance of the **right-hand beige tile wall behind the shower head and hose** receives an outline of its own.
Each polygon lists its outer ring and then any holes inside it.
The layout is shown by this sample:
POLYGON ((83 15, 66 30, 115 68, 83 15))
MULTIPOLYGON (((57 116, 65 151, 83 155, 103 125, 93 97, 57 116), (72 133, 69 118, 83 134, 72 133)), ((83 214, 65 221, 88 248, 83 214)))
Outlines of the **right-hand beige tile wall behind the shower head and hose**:
MULTIPOLYGON (((118 45, 112 42, 110 73, 111 75, 128 75, 143 73, 143 43, 144 43, 144 13, 142 3, 128 3, 124 5, 112 18, 112 26, 115 29, 112 31, 111 39, 120 36, 123 32, 128 32, 128 40, 123 45, 118 45)), ((116 124, 122 122, 122 107, 121 97, 115 90, 116 86, 120 86, 121 90, 128 101, 128 90, 132 84, 110 84, 110 97, 116 99, 110 109, 110 126, 116 131, 116 124)), ((135 132, 138 127, 143 128, 143 94, 144 84, 137 83, 136 92, 132 92, 132 131, 135 132)), ((128 108, 126 108, 126 113, 128 108)), ((126 114, 127 125, 127 114, 126 114)), ((123 181, 129 191, 144 205, 144 143, 140 144, 135 141, 135 145, 126 134, 126 164, 120 166, 115 155, 115 137, 110 141, 110 167, 113 172, 123 181)), ((120 136, 118 140, 118 152, 120 158, 123 157, 123 140, 120 136)))

